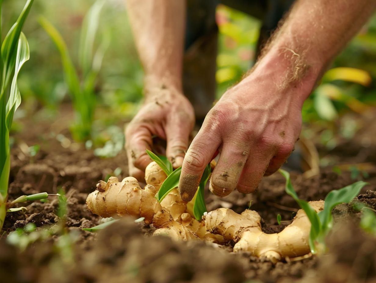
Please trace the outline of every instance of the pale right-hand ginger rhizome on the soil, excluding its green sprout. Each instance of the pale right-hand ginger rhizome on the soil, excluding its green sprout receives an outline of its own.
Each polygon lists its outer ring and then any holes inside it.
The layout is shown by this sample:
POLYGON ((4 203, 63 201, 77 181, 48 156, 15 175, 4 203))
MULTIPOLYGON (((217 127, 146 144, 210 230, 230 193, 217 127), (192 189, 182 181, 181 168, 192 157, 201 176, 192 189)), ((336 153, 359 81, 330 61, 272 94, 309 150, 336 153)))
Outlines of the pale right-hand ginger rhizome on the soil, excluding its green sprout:
MULTIPOLYGON (((310 201, 319 212, 324 201, 310 201)), ((277 262, 285 257, 303 256, 310 252, 309 232, 311 222, 303 209, 298 210, 293 222, 279 233, 266 234, 261 230, 261 216, 246 209, 240 214, 231 209, 220 208, 203 216, 206 230, 235 242, 233 250, 249 251, 253 256, 266 257, 277 262)))

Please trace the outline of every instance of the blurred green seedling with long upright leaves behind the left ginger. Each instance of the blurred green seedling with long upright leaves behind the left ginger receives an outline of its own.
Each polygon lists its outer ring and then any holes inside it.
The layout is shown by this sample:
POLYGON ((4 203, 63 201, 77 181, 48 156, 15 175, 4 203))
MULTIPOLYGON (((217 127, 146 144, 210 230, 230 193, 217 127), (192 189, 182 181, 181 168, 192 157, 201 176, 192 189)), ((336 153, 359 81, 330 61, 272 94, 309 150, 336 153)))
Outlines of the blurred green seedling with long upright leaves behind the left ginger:
POLYGON ((109 39, 105 36, 102 44, 93 55, 93 45, 99 25, 99 15, 104 3, 104 0, 94 3, 83 20, 79 46, 79 70, 82 73, 82 82, 79 79, 79 71, 73 65, 67 45, 58 30, 46 18, 39 18, 39 23, 50 35, 60 52, 65 83, 70 91, 76 114, 76 123, 71 127, 71 133, 74 139, 82 142, 88 141, 91 138, 92 122, 96 106, 94 88, 105 50, 109 45, 109 39))

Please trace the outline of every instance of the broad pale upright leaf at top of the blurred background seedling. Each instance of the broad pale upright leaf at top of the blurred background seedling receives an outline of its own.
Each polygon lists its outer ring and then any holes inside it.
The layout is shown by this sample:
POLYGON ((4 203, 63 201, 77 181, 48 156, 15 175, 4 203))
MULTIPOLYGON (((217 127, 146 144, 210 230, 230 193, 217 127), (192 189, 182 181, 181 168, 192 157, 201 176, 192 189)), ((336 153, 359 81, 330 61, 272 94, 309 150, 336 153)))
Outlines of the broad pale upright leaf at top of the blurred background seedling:
POLYGON ((99 27, 100 12, 104 4, 104 0, 95 2, 83 18, 79 45, 79 67, 84 77, 92 68, 94 39, 99 27))

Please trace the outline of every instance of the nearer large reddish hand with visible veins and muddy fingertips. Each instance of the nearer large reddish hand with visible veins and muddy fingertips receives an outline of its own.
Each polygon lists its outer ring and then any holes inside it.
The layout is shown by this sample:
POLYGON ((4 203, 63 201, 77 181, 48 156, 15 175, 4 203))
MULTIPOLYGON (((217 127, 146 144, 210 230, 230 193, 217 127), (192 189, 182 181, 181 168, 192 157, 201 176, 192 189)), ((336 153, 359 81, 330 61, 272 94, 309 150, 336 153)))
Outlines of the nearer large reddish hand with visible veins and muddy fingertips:
POLYGON ((278 85, 272 69, 256 69, 229 89, 206 116, 185 155, 179 182, 182 200, 193 198, 217 150, 211 192, 223 197, 235 188, 255 191, 262 176, 277 171, 293 150, 310 85, 278 85))

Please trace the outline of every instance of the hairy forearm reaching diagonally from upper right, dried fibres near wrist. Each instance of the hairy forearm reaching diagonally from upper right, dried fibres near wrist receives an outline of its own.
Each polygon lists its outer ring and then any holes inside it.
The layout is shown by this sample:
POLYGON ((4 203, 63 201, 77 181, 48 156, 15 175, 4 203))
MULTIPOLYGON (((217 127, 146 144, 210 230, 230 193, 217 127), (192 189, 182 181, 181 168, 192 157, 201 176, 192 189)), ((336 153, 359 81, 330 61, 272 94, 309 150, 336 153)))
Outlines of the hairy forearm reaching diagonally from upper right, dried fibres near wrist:
POLYGON ((298 0, 252 72, 268 70, 281 89, 300 88, 303 102, 375 7, 374 0, 298 0))

